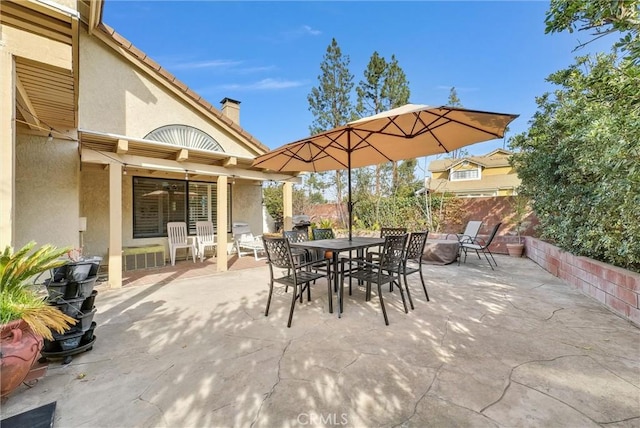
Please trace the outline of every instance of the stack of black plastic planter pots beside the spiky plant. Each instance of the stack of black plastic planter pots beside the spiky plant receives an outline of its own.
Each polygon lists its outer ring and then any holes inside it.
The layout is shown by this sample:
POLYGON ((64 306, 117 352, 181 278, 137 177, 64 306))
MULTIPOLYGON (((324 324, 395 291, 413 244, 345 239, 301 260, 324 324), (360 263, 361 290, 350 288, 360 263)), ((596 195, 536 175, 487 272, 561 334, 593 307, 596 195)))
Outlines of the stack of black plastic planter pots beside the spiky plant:
POLYGON ((45 282, 48 302, 60 311, 76 319, 76 324, 64 334, 53 333, 54 340, 45 340, 41 361, 63 358, 63 364, 72 356, 93 349, 96 323, 94 305, 100 260, 84 260, 67 263, 57 268, 53 277, 45 282))

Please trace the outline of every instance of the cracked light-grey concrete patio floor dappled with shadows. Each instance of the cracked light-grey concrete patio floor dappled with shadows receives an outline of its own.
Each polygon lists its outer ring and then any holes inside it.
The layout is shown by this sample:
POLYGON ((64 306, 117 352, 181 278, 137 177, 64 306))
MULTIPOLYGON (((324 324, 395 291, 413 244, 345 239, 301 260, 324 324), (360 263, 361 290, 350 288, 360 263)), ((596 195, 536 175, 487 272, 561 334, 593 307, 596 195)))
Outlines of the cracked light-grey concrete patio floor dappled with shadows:
MULTIPOLYGON (((296 306, 268 268, 99 289, 93 350, 14 391, 55 427, 640 427, 640 329, 528 259, 412 275, 415 310, 326 284, 296 306), (335 300, 334 300, 335 303, 335 300)), ((178 262, 190 264, 191 262, 178 262)))

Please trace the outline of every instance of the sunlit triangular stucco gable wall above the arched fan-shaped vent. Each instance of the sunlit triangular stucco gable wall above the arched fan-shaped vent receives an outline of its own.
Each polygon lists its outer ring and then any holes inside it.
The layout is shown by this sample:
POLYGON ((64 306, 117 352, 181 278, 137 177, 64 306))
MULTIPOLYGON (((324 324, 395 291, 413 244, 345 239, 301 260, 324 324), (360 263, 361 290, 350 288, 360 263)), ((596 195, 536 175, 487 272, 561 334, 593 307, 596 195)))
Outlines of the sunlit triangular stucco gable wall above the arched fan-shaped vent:
POLYGON ((211 124, 210 119, 84 32, 80 68, 81 129, 144 138, 161 126, 189 125, 211 135, 225 152, 251 156, 222 127, 211 124))

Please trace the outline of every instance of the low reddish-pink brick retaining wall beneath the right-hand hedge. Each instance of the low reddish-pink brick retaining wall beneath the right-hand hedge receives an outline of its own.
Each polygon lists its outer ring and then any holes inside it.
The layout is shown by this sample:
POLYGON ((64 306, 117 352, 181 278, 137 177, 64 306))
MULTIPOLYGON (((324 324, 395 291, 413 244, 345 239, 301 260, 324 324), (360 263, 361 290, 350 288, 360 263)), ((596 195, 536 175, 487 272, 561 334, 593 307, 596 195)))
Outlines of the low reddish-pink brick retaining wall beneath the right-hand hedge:
POLYGON ((528 258, 552 275, 640 326, 640 274, 574 256, 536 238, 525 238, 528 258))

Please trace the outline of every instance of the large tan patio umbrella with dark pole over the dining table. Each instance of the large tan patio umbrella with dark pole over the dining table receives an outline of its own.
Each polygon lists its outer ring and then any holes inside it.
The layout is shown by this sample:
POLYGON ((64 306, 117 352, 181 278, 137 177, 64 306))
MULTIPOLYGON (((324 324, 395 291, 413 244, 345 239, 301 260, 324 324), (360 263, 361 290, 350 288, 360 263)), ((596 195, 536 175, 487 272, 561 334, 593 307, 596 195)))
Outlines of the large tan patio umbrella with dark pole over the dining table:
POLYGON ((406 104, 285 144, 256 158, 253 166, 289 172, 346 169, 351 239, 352 168, 449 153, 502 138, 507 125, 517 117, 517 114, 406 104))

